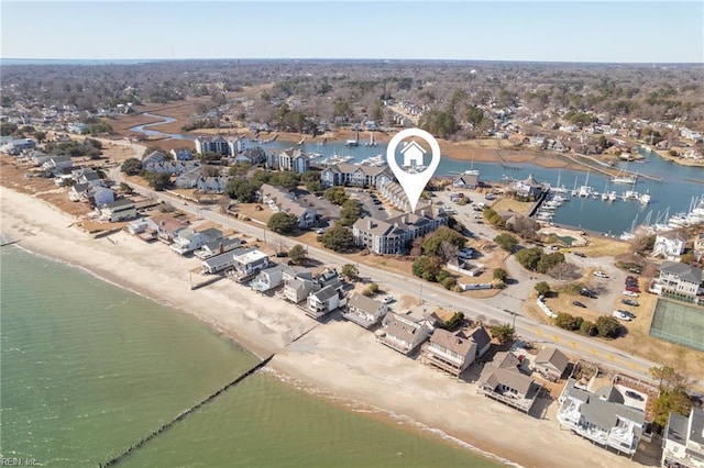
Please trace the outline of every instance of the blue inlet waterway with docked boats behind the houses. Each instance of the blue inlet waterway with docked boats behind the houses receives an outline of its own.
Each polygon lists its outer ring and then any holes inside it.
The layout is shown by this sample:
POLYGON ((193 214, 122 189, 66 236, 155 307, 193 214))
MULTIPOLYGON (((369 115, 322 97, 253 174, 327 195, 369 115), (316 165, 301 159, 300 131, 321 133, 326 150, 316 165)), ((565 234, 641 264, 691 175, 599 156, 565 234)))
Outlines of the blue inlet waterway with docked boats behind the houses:
MULTIPOLYGON (((147 114, 160 118, 161 115, 147 114)), ((163 122, 140 125, 130 129, 134 132, 143 132, 148 135, 167 136, 170 138, 195 140, 191 135, 165 134, 152 127, 168 122, 174 122, 173 118, 163 116, 163 122)), ((360 163, 369 157, 385 155, 386 145, 383 143, 376 146, 366 146, 364 141, 360 141, 360 146, 349 147, 344 142, 310 142, 307 138, 302 145, 275 141, 262 144, 254 141, 245 141, 245 146, 263 146, 266 151, 278 151, 292 146, 319 155, 317 160, 330 158, 332 156, 348 156, 351 164, 360 163)), ((470 153, 471 149, 468 149, 470 153)), ((693 199, 704 196, 704 168, 689 167, 672 163, 659 157, 654 153, 641 151, 644 159, 641 161, 619 163, 617 169, 627 169, 630 172, 652 176, 658 180, 639 178, 636 186, 612 183, 609 178, 596 171, 552 169, 532 164, 510 164, 504 167, 498 163, 473 163, 471 160, 459 160, 443 157, 438 167, 437 175, 457 176, 468 169, 480 170, 480 179, 486 182, 498 182, 506 178, 525 179, 532 175, 537 180, 548 182, 552 186, 564 186, 566 189, 588 183, 594 190, 603 192, 614 190, 619 196, 615 202, 606 202, 592 198, 575 198, 569 203, 564 203, 556 211, 552 222, 559 225, 581 227, 605 235, 618 236, 623 232, 630 230, 634 221, 637 224, 649 220, 650 223, 667 223, 667 216, 679 212, 686 212, 693 199), (588 179, 587 179, 588 178, 588 179), (620 196, 627 190, 636 190, 640 193, 648 192, 651 197, 650 203, 640 204, 638 201, 623 201, 620 196)))

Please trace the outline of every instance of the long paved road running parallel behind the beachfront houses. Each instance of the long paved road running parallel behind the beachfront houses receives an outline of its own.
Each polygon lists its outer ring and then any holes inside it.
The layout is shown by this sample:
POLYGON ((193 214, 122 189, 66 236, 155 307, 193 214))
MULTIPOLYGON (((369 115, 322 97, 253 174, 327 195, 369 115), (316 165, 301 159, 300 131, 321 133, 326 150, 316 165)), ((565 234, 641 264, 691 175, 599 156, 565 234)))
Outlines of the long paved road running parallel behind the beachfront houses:
MULTIPOLYGON (((111 171, 111 177, 118 183, 122 181, 122 175, 119 171, 119 167, 111 171)), ((194 204, 183 204, 178 199, 164 193, 156 192, 154 190, 135 186, 133 187, 135 192, 143 196, 153 197, 158 201, 169 202, 178 207, 179 210, 189 212, 198 218, 212 221, 221 224, 226 227, 234 229, 246 235, 265 239, 267 244, 283 246, 286 248, 296 244, 295 241, 278 235, 266 226, 256 226, 249 223, 244 223, 234 220, 228 215, 211 211, 209 208, 199 208, 194 204)), ((342 255, 338 255, 333 252, 308 246, 308 255, 315 257, 326 265, 344 265, 350 263, 342 255)), ((416 278, 409 278, 404 275, 382 271, 374 267, 367 267, 365 265, 359 265, 359 275, 361 277, 371 278, 373 281, 384 283, 391 289, 397 290, 402 293, 417 297, 420 296, 421 280, 416 278)), ((422 282, 422 301, 431 305, 441 305, 443 308, 450 308, 452 310, 461 311, 465 316, 475 319, 480 315, 498 321, 502 323, 510 323, 515 326, 516 334, 522 339, 534 342, 537 344, 550 344, 557 348, 574 356, 579 356, 581 359, 596 363, 609 367, 618 372, 627 374, 629 376, 651 381, 648 370, 652 367, 659 367, 658 363, 653 363, 638 356, 628 355, 620 349, 616 349, 603 342, 594 338, 579 335, 573 332, 568 332, 562 328, 547 325, 544 323, 537 322, 530 317, 522 315, 524 299, 513 296, 510 288, 505 291, 508 296, 504 300, 503 296, 498 296, 492 300, 479 300, 466 297, 460 297, 458 293, 448 291, 442 287, 435 283, 422 282), (501 304, 497 307, 496 304, 501 304)), ((694 387, 704 389, 704 381, 692 380, 694 387)))

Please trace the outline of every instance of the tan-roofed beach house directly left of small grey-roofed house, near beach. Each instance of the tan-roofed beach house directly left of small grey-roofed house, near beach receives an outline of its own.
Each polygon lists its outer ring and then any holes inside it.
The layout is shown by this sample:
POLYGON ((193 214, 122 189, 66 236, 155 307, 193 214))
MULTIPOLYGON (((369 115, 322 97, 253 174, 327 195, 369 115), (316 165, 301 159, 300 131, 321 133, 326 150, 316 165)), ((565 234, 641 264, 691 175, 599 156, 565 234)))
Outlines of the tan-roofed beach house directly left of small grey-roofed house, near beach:
POLYGON ((477 391, 528 414, 542 387, 521 374, 520 365, 513 353, 497 353, 482 369, 477 391))

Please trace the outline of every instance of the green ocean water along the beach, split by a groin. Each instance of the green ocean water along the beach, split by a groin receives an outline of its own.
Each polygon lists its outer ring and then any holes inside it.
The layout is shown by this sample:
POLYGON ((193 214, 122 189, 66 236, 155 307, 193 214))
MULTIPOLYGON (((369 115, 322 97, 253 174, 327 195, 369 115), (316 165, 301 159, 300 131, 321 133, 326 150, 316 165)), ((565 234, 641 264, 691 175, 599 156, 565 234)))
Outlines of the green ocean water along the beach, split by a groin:
MULTIPOLYGON (((98 466, 257 359, 195 319, 89 274, 0 250, 0 456, 98 466)), ((435 435, 260 372, 123 458, 127 467, 492 467, 435 435)))

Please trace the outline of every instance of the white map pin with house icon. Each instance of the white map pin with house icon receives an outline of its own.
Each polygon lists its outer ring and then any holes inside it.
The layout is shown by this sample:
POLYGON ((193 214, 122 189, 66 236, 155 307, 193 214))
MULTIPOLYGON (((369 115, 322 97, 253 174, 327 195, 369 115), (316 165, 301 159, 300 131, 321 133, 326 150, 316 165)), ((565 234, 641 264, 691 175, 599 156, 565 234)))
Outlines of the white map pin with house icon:
POLYGON ((408 202, 410 203, 410 211, 416 211, 420 194, 426 188, 428 180, 436 174, 438 165, 440 164, 440 145, 438 145, 436 138, 425 130, 402 130, 388 142, 388 146, 386 147, 386 163, 388 163, 388 167, 392 168, 394 176, 398 179, 398 183, 400 183, 400 187, 406 192, 406 197, 408 197, 408 202), (404 166, 426 166, 426 169, 415 174, 405 171, 398 166, 398 163, 396 163, 396 147, 402 141, 409 136, 417 136, 425 140, 430 145, 430 151, 432 152, 430 164, 425 164, 424 157, 427 157, 426 151, 418 143, 411 141, 402 148, 400 152, 404 155, 404 161, 408 163, 404 164, 404 166))

